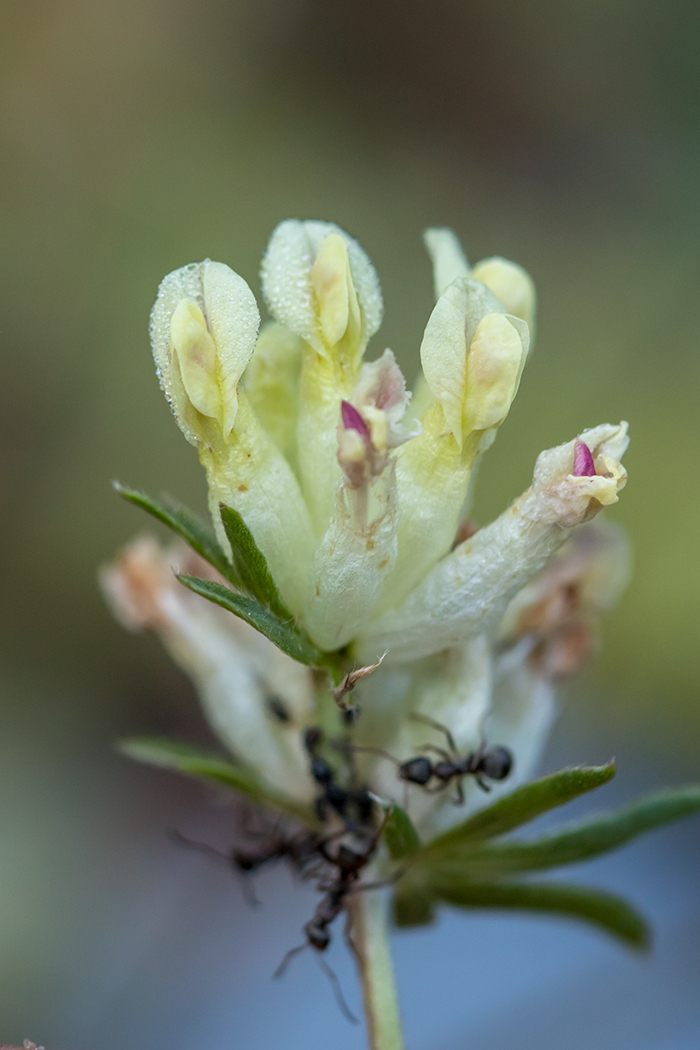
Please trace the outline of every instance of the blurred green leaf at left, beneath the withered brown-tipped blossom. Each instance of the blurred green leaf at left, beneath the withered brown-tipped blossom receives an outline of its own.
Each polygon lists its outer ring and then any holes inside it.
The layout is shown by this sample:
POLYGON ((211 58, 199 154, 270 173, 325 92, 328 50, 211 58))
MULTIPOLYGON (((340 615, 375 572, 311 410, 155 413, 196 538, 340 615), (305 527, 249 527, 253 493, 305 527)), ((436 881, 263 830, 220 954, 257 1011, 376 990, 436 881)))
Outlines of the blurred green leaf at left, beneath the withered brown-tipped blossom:
POLYGON ((134 737, 121 740, 122 754, 146 765, 157 765, 164 770, 185 773, 203 780, 232 788, 264 805, 273 806, 288 816, 313 823, 309 810, 279 795, 252 770, 227 758, 203 751, 185 740, 169 740, 165 737, 134 737))

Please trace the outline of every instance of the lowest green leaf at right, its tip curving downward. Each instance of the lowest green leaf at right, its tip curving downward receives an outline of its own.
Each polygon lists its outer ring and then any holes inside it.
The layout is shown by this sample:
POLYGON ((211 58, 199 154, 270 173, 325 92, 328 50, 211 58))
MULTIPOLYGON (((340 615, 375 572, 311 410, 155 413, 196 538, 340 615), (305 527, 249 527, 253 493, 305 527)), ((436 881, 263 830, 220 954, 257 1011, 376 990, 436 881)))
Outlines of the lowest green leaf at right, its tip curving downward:
POLYGON ((650 930, 642 916, 620 897, 549 882, 473 883, 467 880, 430 882, 438 900, 463 908, 508 908, 580 919, 619 938, 633 948, 646 948, 650 930))

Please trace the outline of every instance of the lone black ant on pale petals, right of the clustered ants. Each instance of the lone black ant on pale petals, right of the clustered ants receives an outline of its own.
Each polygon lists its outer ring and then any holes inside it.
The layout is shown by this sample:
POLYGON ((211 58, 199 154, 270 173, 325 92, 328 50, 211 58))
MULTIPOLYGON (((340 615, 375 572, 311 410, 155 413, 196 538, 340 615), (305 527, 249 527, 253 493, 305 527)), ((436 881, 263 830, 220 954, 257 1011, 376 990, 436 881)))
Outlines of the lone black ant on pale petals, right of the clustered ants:
POLYGON ((416 758, 409 758, 405 762, 401 762, 394 755, 382 751, 381 748, 356 747, 354 750, 366 751, 375 755, 381 755, 383 758, 388 758, 389 761, 399 768, 399 776, 402 780, 405 780, 407 783, 419 784, 431 794, 444 791, 451 780, 457 780, 455 805, 462 805, 464 802, 464 786, 462 783, 464 777, 472 776, 482 791, 490 791, 491 786, 486 782, 487 780, 505 780, 512 770, 513 756, 507 748, 486 748, 485 744, 481 744, 476 751, 471 751, 468 755, 460 755, 454 737, 446 726, 434 721, 432 718, 428 718, 427 715, 412 714, 410 717, 413 721, 422 721, 426 726, 431 726, 433 729, 438 729, 441 733, 445 734, 449 751, 445 751, 444 748, 438 748, 434 743, 426 743, 421 749, 422 751, 432 751, 438 754, 440 756, 439 762, 431 761, 425 755, 417 755, 416 758), (437 780, 438 783, 429 786, 431 780, 437 780))

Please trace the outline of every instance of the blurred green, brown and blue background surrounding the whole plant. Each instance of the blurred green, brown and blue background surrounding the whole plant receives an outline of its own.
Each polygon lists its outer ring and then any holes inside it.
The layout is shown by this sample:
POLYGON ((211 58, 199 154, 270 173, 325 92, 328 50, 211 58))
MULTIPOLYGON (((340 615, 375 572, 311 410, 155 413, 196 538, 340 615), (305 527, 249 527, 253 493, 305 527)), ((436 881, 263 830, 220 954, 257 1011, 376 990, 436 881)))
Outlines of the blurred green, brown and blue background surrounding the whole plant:
MULTIPOLYGON (((5 0, 2 27, 0 1041, 357 1050, 310 954, 270 983, 313 897, 271 873, 247 910, 230 873, 165 837, 226 845, 230 808, 112 749, 206 734, 189 684, 96 587, 145 526, 111 478, 204 506, 153 375, 155 289, 211 256, 257 290, 277 222, 333 219, 382 279, 375 349, 412 374, 426 225, 525 265, 537 346, 478 519, 540 448, 620 417, 633 436, 613 514, 636 574, 545 769, 616 754, 609 804, 697 780, 700 7, 5 0)), ((697 1047, 699 864, 687 822, 573 873, 648 911, 643 960, 512 917, 398 936, 410 1047, 697 1047)), ((357 1005, 349 961, 332 961, 357 1005)))

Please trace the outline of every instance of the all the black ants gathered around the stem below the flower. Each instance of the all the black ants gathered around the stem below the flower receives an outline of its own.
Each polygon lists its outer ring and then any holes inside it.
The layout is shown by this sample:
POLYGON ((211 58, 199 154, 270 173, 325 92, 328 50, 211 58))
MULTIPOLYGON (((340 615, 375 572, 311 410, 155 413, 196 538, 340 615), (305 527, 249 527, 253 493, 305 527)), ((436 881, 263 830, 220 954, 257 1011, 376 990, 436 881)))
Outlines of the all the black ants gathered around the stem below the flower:
MULTIPOLYGON (((279 721, 289 721, 289 715, 282 701, 274 697, 269 701, 270 714, 279 721)), ((352 724, 357 708, 344 712, 344 720, 352 724)), ((255 846, 237 847, 229 854, 221 854, 212 846, 193 842, 176 833, 176 838, 187 845, 204 849, 218 857, 224 857, 234 872, 248 877, 260 868, 277 861, 284 861, 292 872, 301 879, 315 880, 316 888, 323 896, 316 906, 312 918, 303 926, 304 943, 287 952, 275 971, 275 976, 281 976, 291 960, 304 948, 314 948, 317 959, 331 981, 338 1004, 348 1020, 357 1023, 357 1018, 347 1008, 338 979, 322 958, 331 944, 330 927, 345 911, 347 921, 344 929, 345 942, 355 953, 352 939, 349 898, 353 895, 368 889, 377 889, 388 885, 391 881, 362 882, 363 870, 377 852, 379 841, 384 832, 388 810, 378 821, 376 810, 378 799, 373 796, 366 784, 362 784, 357 775, 354 762, 356 752, 380 755, 394 762, 398 769, 399 778, 408 784, 416 784, 424 791, 434 794, 444 791, 450 783, 457 784, 455 804, 464 802, 463 781, 467 776, 474 778, 484 791, 490 791, 488 780, 505 779, 513 764, 511 753, 506 748, 487 748, 482 744, 476 751, 467 755, 459 754, 454 738, 447 727, 425 715, 410 716, 444 734, 447 748, 426 743, 420 751, 438 755, 434 761, 425 754, 417 755, 404 761, 379 748, 361 747, 347 740, 331 740, 330 747, 342 755, 345 763, 345 775, 341 783, 338 773, 331 762, 323 757, 325 743, 322 730, 313 726, 305 730, 303 743, 310 762, 310 774, 317 785, 315 814, 322 825, 319 831, 289 832, 281 828, 279 822, 269 830, 253 832, 247 830, 249 838, 261 839, 255 846)), ((246 894, 252 904, 258 901, 251 890, 250 883, 245 881, 246 894)))

